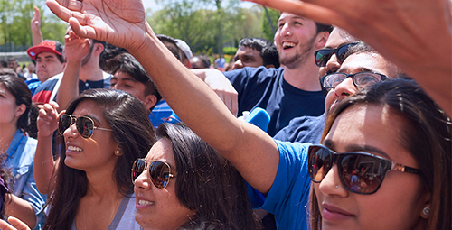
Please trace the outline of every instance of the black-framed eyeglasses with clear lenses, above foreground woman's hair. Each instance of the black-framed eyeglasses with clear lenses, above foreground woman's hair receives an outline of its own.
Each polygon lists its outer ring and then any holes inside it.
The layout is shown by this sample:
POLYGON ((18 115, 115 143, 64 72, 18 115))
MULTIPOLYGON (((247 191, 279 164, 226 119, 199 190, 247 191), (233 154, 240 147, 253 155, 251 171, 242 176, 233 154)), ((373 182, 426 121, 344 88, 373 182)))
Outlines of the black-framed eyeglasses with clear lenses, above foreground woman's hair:
POLYGON ((326 90, 329 90, 341 84, 346 78, 352 78, 355 87, 370 87, 389 79, 384 74, 374 72, 359 72, 354 74, 329 73, 322 77, 322 86, 326 90))

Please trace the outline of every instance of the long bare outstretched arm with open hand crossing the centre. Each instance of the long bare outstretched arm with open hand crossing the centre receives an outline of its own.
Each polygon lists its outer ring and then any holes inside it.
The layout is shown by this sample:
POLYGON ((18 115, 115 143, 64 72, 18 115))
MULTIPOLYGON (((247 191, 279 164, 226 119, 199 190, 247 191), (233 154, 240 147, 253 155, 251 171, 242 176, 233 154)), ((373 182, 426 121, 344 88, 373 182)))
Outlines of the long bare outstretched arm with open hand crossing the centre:
POLYGON ((237 120, 210 87, 174 58, 146 23, 141 1, 78 3, 70 11, 68 5, 47 2, 80 37, 108 41, 130 51, 184 123, 231 161, 251 186, 267 193, 278 170, 277 144, 258 127, 237 120))

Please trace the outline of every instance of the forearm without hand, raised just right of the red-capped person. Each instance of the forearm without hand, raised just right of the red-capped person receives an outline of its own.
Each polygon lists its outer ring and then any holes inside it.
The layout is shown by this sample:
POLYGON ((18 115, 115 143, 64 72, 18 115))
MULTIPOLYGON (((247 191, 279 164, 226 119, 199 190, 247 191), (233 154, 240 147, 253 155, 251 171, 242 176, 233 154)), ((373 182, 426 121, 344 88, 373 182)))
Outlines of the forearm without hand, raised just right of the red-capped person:
POLYGON ((81 61, 68 60, 66 69, 61 78, 60 88, 56 96, 56 101, 60 108, 58 112, 66 109, 74 97, 79 96, 79 77, 80 77, 81 61))

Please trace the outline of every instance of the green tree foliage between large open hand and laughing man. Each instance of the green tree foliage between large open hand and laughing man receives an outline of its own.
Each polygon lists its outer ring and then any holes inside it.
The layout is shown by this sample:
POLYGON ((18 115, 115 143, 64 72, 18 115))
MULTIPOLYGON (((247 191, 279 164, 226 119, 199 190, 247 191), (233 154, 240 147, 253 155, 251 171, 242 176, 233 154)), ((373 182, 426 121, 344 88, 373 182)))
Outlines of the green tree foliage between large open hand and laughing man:
POLYGON ((163 9, 148 22, 156 33, 186 41, 195 53, 222 53, 245 37, 262 37, 262 9, 240 8, 237 0, 156 0, 163 9))

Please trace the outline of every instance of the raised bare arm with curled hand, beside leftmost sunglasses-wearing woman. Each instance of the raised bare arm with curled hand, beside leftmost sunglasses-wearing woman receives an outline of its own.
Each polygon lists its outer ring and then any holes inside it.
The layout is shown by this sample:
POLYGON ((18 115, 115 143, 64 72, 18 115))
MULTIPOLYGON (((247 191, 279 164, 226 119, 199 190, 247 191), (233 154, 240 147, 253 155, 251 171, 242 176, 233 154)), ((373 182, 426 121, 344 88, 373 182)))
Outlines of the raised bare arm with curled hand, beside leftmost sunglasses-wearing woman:
POLYGON ((34 155, 33 170, 36 187, 42 194, 51 194, 54 187, 52 177, 57 164, 52 155, 52 134, 58 127, 58 107, 54 102, 39 106, 38 145, 34 155))

